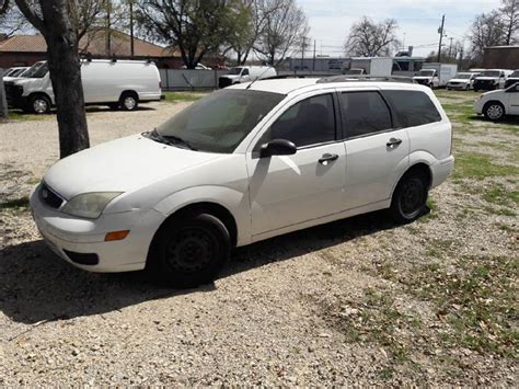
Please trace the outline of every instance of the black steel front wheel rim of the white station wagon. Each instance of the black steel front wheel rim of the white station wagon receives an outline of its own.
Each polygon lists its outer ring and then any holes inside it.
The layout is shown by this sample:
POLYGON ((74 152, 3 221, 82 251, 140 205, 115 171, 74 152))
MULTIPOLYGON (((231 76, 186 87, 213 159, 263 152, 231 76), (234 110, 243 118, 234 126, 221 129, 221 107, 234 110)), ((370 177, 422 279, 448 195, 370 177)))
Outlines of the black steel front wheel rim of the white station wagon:
POLYGON ((165 259, 174 271, 192 274, 206 268, 215 255, 216 241, 206 230, 186 228, 175 233, 165 248, 165 259))

